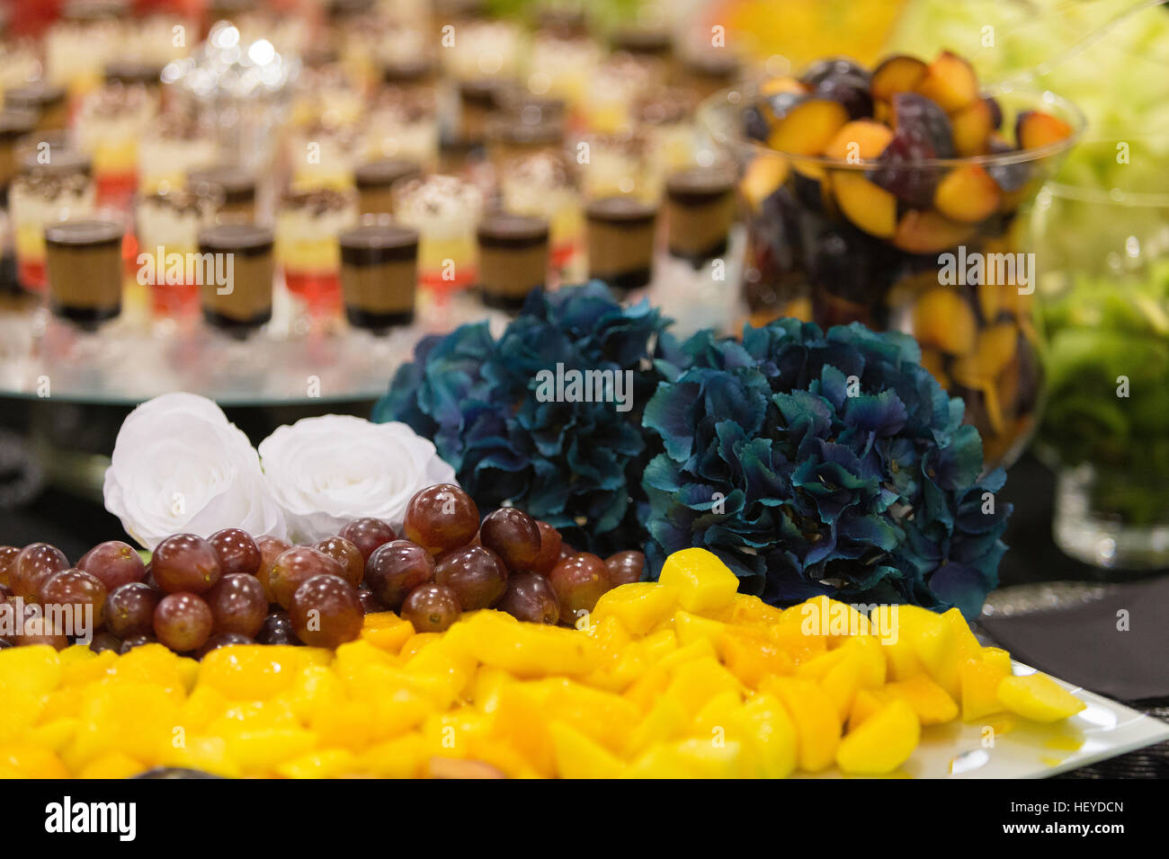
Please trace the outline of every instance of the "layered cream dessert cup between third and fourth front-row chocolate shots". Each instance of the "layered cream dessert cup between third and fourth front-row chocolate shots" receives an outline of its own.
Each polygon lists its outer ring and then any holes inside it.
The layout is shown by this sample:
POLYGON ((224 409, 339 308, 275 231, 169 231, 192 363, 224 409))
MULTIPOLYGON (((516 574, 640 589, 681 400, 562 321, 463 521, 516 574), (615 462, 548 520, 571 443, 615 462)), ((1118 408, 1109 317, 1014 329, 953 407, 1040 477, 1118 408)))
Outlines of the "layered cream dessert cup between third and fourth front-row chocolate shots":
POLYGON ((476 282, 475 228, 483 192, 450 175, 411 179, 394 189, 396 220, 419 231, 419 280, 440 293, 476 282))

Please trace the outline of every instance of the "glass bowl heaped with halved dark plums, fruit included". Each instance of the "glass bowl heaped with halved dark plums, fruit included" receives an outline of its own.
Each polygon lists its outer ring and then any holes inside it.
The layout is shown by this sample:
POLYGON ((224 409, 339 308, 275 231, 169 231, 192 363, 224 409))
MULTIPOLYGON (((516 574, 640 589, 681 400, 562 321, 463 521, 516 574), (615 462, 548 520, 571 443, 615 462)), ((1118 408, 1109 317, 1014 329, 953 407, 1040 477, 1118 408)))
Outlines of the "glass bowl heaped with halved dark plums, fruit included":
POLYGON ((1080 112, 1051 92, 984 91, 943 51, 872 71, 825 60, 724 90, 700 118, 740 169, 752 321, 912 334, 964 400, 988 467, 1014 462, 1042 382, 1017 215, 1079 137, 1080 112))

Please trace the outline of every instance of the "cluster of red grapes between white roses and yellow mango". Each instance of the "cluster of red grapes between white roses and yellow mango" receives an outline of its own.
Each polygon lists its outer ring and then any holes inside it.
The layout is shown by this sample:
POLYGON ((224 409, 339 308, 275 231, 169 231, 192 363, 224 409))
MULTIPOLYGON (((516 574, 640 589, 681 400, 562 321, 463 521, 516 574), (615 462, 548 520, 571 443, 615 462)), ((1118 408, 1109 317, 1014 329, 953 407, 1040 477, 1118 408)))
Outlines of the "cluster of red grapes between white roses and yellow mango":
MULTIPOLYGON (((203 539, 175 534, 148 564, 129 545, 94 547, 71 568, 48 543, 0 547, 0 600, 26 618, 48 605, 91 607, 94 650, 126 652, 150 642, 201 657, 228 644, 353 640, 362 617, 397 611, 419 632, 441 632, 463 611, 496 608, 521 621, 574 623, 617 584, 641 579, 645 557, 577 553, 560 532, 513 507, 479 511, 463 490, 440 484, 410 499, 404 539, 380 519, 354 519, 311 546, 223 528, 203 539)), ((70 642, 64 630, 21 624, 0 647, 70 642)))

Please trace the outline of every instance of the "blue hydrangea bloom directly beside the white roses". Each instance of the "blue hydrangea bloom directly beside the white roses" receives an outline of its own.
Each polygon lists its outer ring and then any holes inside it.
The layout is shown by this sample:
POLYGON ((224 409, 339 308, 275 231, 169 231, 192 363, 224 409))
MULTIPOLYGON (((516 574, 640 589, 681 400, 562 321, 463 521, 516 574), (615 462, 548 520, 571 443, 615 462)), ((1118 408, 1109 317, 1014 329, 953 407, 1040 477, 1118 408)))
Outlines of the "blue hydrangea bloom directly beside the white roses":
POLYGON ((604 284, 533 292, 497 340, 485 324, 427 338, 374 409, 433 438, 484 510, 507 501, 608 554, 644 542, 641 476, 660 446, 641 411, 680 358, 669 321, 622 307, 604 284), (541 401, 541 370, 631 370, 631 408, 541 401))

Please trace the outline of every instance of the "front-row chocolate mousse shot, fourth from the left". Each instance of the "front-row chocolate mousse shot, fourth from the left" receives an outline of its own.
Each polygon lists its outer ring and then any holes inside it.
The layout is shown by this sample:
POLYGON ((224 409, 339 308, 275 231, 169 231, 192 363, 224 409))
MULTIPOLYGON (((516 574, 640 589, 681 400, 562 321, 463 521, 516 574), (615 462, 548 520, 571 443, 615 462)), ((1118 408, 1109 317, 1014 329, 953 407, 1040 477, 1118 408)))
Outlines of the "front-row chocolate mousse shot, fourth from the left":
POLYGON ((514 311, 527 293, 548 280, 548 222, 503 212, 487 215, 477 229, 479 291, 489 307, 514 311))

